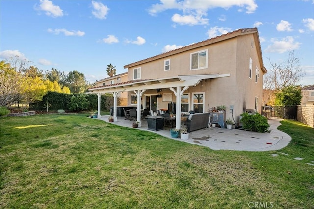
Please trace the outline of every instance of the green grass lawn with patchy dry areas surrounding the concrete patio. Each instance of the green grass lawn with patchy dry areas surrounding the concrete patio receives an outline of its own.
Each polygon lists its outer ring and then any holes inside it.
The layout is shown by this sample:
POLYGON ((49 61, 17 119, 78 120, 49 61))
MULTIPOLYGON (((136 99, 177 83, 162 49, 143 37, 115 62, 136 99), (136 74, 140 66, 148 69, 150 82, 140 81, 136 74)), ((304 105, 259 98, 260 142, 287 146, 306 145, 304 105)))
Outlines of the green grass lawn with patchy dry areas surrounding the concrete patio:
POLYGON ((1 118, 1 208, 314 207, 302 123, 282 121, 292 141, 279 151, 213 151, 87 115, 1 118))

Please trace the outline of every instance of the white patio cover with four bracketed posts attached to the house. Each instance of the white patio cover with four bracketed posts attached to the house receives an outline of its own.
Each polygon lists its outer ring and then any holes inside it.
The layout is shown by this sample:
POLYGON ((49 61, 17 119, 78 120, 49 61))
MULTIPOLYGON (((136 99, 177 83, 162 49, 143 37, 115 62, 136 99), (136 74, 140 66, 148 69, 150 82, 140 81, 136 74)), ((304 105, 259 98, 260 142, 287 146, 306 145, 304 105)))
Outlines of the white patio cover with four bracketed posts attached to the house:
MULTIPOLYGON (((141 109, 141 97, 146 90, 169 88, 176 96, 176 112, 181 115, 181 96, 190 86, 196 86, 204 79, 228 77, 230 74, 209 74, 209 75, 179 75, 177 77, 168 77, 150 80, 131 80, 128 82, 111 84, 106 86, 96 86, 90 88, 90 93, 96 93, 98 96, 97 117, 100 118, 100 102, 102 93, 113 94, 113 121, 117 121, 117 96, 120 92, 133 91, 137 96, 137 109, 141 109)), ((137 111, 137 119, 141 123, 141 112, 137 111)), ((176 128, 180 128, 180 117, 176 117, 176 128)))

